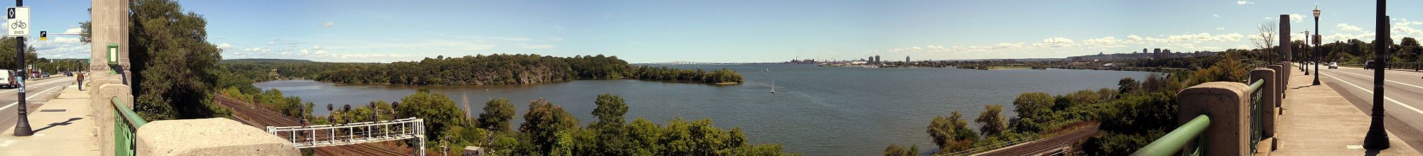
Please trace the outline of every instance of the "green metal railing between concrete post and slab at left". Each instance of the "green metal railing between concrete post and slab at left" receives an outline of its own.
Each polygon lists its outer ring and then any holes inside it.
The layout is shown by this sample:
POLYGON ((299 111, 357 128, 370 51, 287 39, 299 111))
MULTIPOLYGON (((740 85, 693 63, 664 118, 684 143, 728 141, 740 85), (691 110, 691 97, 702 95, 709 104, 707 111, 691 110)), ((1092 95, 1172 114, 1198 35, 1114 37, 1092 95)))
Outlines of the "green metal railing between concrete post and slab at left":
POLYGON ((138 116, 134 109, 128 109, 128 105, 118 101, 118 96, 112 98, 114 104, 114 155, 115 156, 134 156, 134 140, 138 136, 138 128, 148 123, 144 118, 138 116))

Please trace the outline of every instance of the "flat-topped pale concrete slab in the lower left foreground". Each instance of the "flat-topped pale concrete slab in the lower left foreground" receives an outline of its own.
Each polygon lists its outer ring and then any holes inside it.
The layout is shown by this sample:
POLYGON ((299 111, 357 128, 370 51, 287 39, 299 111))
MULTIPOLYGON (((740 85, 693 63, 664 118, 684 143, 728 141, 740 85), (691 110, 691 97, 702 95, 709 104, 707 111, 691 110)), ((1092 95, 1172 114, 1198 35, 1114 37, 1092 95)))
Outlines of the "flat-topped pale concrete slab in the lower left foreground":
POLYGON ((138 128, 138 156, 300 156, 292 142, 226 118, 154 121, 138 128))

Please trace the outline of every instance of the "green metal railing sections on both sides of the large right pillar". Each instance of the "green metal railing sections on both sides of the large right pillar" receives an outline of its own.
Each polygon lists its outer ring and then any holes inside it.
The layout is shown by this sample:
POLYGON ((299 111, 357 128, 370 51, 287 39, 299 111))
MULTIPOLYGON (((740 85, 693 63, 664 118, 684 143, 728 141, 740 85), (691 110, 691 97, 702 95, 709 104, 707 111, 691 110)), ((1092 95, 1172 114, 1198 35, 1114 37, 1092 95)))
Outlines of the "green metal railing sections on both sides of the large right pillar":
MULTIPOLYGON (((1262 121, 1261 115, 1265 113, 1262 106, 1265 104, 1261 104, 1261 95, 1264 94, 1262 92, 1264 89, 1261 89, 1261 87, 1265 85, 1265 79, 1264 78, 1259 79, 1251 78, 1251 79, 1254 81, 1249 84, 1249 89, 1247 89, 1245 92, 1249 92, 1249 106, 1251 106, 1249 139, 1251 139, 1251 153, 1255 153, 1255 145, 1259 143, 1261 135, 1264 132, 1264 125, 1261 123, 1262 121)), ((1207 128, 1211 128, 1211 115, 1204 115, 1204 113, 1197 115, 1190 122, 1185 122, 1184 125, 1175 128, 1175 130, 1165 133, 1164 136, 1158 138, 1157 140, 1153 140, 1151 143, 1143 146, 1141 149, 1137 149, 1137 152, 1131 153, 1131 156, 1170 156, 1177 153, 1180 153, 1181 156, 1204 155, 1205 153, 1204 140, 1207 136, 1201 133, 1204 133, 1207 128), (1195 142, 1192 143, 1191 140, 1195 142)))

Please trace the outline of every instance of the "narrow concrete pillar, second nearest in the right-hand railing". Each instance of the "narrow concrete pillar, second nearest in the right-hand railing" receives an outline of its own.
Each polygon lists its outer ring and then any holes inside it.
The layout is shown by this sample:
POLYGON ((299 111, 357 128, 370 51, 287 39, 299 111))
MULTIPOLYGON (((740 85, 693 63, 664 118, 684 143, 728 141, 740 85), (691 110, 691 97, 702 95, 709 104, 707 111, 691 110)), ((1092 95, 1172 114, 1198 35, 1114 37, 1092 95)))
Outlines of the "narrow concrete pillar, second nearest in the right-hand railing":
MULTIPOLYGON (((1289 69, 1286 68, 1285 71, 1289 71, 1289 69)), ((1278 108, 1274 106, 1274 105, 1278 105, 1281 99, 1279 99, 1279 95, 1275 94, 1275 89, 1269 89, 1269 88, 1278 87, 1279 84, 1276 84, 1276 82, 1279 82, 1279 81, 1275 78, 1275 69, 1268 69, 1268 68, 1257 68, 1255 71, 1251 71, 1249 72, 1249 81, 1255 81, 1255 79, 1264 79, 1265 81, 1265 84, 1259 87, 1261 88, 1259 102, 1262 105, 1261 109, 1265 111, 1261 115, 1261 122, 1264 122, 1264 129, 1262 129, 1264 133, 1261 133, 1261 136, 1264 136, 1264 138, 1275 138, 1275 118, 1278 116, 1278 113, 1275 113, 1275 112, 1278 111, 1278 108)), ((1249 94, 1249 92, 1247 92, 1247 94, 1249 94)), ((1271 143, 1271 145, 1279 145, 1279 143, 1271 143)), ((1275 149, 1275 147, 1278 147, 1278 146, 1272 146, 1272 149, 1275 149)))

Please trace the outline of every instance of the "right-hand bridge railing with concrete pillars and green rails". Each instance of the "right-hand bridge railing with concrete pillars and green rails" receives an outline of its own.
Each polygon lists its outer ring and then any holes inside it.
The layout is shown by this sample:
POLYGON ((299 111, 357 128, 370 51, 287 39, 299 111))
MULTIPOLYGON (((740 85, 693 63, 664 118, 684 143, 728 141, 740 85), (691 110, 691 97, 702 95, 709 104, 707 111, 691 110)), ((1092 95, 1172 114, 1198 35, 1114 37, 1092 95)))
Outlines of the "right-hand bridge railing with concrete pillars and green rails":
POLYGON ((1244 156, 1278 149, 1275 118, 1289 68, 1268 65, 1242 82, 1205 82, 1178 92, 1177 129, 1138 149, 1134 156, 1244 156))

